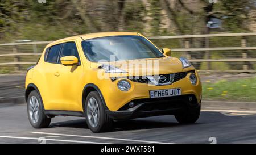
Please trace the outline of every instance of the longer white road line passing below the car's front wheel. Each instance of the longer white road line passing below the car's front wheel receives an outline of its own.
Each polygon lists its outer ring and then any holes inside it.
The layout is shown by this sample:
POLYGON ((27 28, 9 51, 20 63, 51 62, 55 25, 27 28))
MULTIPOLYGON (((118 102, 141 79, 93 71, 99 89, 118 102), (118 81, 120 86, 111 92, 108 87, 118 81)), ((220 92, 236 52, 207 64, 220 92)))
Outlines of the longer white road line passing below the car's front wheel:
POLYGON ((113 138, 113 137, 81 136, 81 135, 69 135, 69 134, 47 133, 47 132, 32 132, 32 133, 36 133, 36 134, 45 134, 45 135, 84 137, 84 138, 90 138, 90 139, 107 139, 107 140, 120 140, 120 141, 134 141, 134 142, 139 142, 139 143, 173 144, 173 143, 164 143, 164 142, 159 142, 159 141, 133 140, 133 139, 118 139, 118 138, 113 138))

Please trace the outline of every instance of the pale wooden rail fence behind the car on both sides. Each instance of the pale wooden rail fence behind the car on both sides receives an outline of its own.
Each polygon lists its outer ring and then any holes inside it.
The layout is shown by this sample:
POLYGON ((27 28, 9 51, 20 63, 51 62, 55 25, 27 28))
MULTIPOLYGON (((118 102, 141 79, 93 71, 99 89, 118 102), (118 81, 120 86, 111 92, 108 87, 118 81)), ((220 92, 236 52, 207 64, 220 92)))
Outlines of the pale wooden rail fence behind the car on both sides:
MULTIPOLYGON (((233 70, 212 70, 207 67, 204 72, 255 72, 255 69, 249 69, 248 63, 256 62, 256 57, 248 57, 247 51, 256 50, 256 47, 247 47, 247 37, 256 36, 256 33, 221 33, 221 34, 209 34, 209 35, 183 35, 183 36, 155 36, 148 37, 150 40, 170 40, 170 39, 183 39, 184 48, 173 48, 172 52, 182 52, 185 57, 191 62, 243 62, 242 69, 233 69, 233 70), (195 38, 212 38, 212 37, 241 37, 241 46, 240 47, 204 47, 204 48, 191 48, 191 42, 189 39, 195 38), (191 58, 191 52, 206 52, 206 58, 195 59, 191 58), (210 57, 211 51, 241 51, 241 58, 212 58, 210 57)), ((256 40, 255 40, 256 42, 256 40)), ((15 71, 22 70, 20 66, 22 65, 32 65, 36 63, 36 60, 28 61, 32 56, 40 56, 45 47, 51 41, 36 41, 36 42, 26 42, 26 43, 6 43, 0 44, 0 68, 2 66, 14 66, 15 71), (19 46, 32 46, 30 49, 19 49, 19 46), (40 48, 38 48, 40 46, 40 48), (26 58, 21 59, 20 57, 26 56, 26 58), (11 59, 10 59, 11 57, 11 59), (27 61, 26 61, 27 60, 27 61)), ((256 52, 256 51, 254 51, 256 52)), ((203 55, 203 53, 202 53, 203 55)), ((256 56, 256 55, 255 55, 256 56)))

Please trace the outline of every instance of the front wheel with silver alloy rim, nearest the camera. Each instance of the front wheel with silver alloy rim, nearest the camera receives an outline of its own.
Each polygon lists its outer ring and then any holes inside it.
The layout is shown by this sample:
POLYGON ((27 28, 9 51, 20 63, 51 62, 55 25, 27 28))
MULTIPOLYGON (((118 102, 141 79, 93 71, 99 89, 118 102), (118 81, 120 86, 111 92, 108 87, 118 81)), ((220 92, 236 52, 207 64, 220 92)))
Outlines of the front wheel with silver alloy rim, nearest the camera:
POLYGON ((100 95, 97 91, 88 94, 85 100, 86 123, 92 132, 110 131, 113 120, 105 112, 100 95))

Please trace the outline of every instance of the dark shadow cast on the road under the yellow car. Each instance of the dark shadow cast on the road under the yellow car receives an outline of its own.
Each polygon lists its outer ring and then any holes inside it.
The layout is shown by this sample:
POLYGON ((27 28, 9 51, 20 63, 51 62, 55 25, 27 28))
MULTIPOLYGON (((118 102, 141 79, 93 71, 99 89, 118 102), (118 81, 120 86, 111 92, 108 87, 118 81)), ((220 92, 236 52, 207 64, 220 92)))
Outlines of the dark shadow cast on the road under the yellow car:
MULTIPOLYGON (((174 116, 155 116, 150 118, 131 119, 123 121, 114 121, 113 132, 117 131, 130 131, 130 130, 142 130, 142 129, 154 129, 154 128, 172 128, 183 126, 195 126, 200 124, 210 124, 216 122, 224 122, 228 120, 236 120, 243 118, 242 116, 230 116, 222 114, 221 112, 201 112, 199 120, 192 124, 180 124, 177 123, 174 116)), ((69 127, 69 128, 84 128, 89 129, 85 119, 69 120, 65 122, 52 123, 51 128, 56 127, 69 127)))

